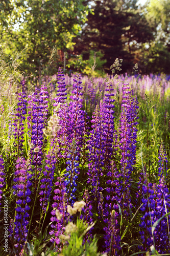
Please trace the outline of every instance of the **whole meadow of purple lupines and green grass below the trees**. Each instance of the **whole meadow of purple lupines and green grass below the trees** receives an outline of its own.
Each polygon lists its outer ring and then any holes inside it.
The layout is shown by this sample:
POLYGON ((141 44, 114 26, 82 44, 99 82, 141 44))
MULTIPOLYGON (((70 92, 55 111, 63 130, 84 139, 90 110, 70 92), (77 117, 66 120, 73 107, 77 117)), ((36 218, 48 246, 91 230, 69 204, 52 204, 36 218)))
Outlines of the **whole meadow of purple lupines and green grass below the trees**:
MULTIPOLYGON (((0 255, 170 255, 170 81, 0 81, 0 255)), ((3 63, 2 63, 3 65, 3 63)))

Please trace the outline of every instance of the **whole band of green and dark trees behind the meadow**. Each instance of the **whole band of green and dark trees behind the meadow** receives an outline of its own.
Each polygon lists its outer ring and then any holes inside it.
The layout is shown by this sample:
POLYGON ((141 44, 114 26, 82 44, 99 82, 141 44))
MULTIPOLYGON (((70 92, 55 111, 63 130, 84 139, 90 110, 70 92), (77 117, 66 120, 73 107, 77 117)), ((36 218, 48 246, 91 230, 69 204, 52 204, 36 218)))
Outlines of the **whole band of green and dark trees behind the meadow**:
POLYGON ((99 76, 117 57, 122 72, 138 62, 142 74, 169 74, 169 11, 169 0, 3 0, 0 46, 8 61, 21 53, 27 76, 51 75, 59 66, 91 74, 94 57, 99 76))

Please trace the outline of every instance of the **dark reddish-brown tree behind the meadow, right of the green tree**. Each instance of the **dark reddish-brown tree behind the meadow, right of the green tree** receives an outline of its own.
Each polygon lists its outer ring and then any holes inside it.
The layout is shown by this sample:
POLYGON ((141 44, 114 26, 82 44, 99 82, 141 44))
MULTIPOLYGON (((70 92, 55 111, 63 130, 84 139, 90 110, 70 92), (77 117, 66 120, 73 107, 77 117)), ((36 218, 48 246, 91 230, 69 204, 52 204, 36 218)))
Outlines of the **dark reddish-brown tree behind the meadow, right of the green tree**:
POLYGON ((101 50, 107 59, 104 68, 110 70, 114 60, 124 59, 123 72, 131 69, 140 59, 141 46, 150 42, 154 27, 144 16, 144 10, 137 6, 137 0, 90 1, 94 15, 89 13, 87 25, 77 38, 76 53, 82 52, 88 58, 89 49, 101 50))

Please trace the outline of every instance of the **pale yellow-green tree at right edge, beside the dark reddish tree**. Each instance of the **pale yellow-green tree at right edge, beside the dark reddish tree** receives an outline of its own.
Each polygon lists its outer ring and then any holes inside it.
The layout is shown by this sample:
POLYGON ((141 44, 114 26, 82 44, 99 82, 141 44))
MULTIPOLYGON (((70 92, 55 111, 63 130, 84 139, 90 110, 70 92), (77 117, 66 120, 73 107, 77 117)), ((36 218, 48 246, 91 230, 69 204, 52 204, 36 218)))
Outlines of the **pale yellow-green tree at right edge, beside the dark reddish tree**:
POLYGON ((169 0, 150 0, 145 6, 145 17, 155 26, 154 39, 143 45, 140 65, 148 73, 169 74, 170 65, 170 2, 169 0))

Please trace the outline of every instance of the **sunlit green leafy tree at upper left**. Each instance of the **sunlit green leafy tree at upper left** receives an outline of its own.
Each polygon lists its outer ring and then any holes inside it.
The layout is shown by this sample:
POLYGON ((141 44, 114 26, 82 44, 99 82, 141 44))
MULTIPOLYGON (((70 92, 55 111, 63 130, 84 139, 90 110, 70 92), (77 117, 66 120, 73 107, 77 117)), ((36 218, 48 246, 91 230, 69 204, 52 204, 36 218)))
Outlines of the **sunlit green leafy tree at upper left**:
MULTIPOLYGON (((72 39, 86 22, 88 7, 83 0, 15 0, 6 16, 1 44, 10 55, 26 48, 21 68, 26 73, 42 73, 48 66, 50 50, 57 45, 58 53, 72 48, 72 39)), ((1 15, 0 18, 3 18, 1 15)), ((59 55, 59 54, 58 54, 59 55)), ((60 56, 58 56, 60 60, 60 56)), ((51 72, 57 71, 54 63, 51 72)))

